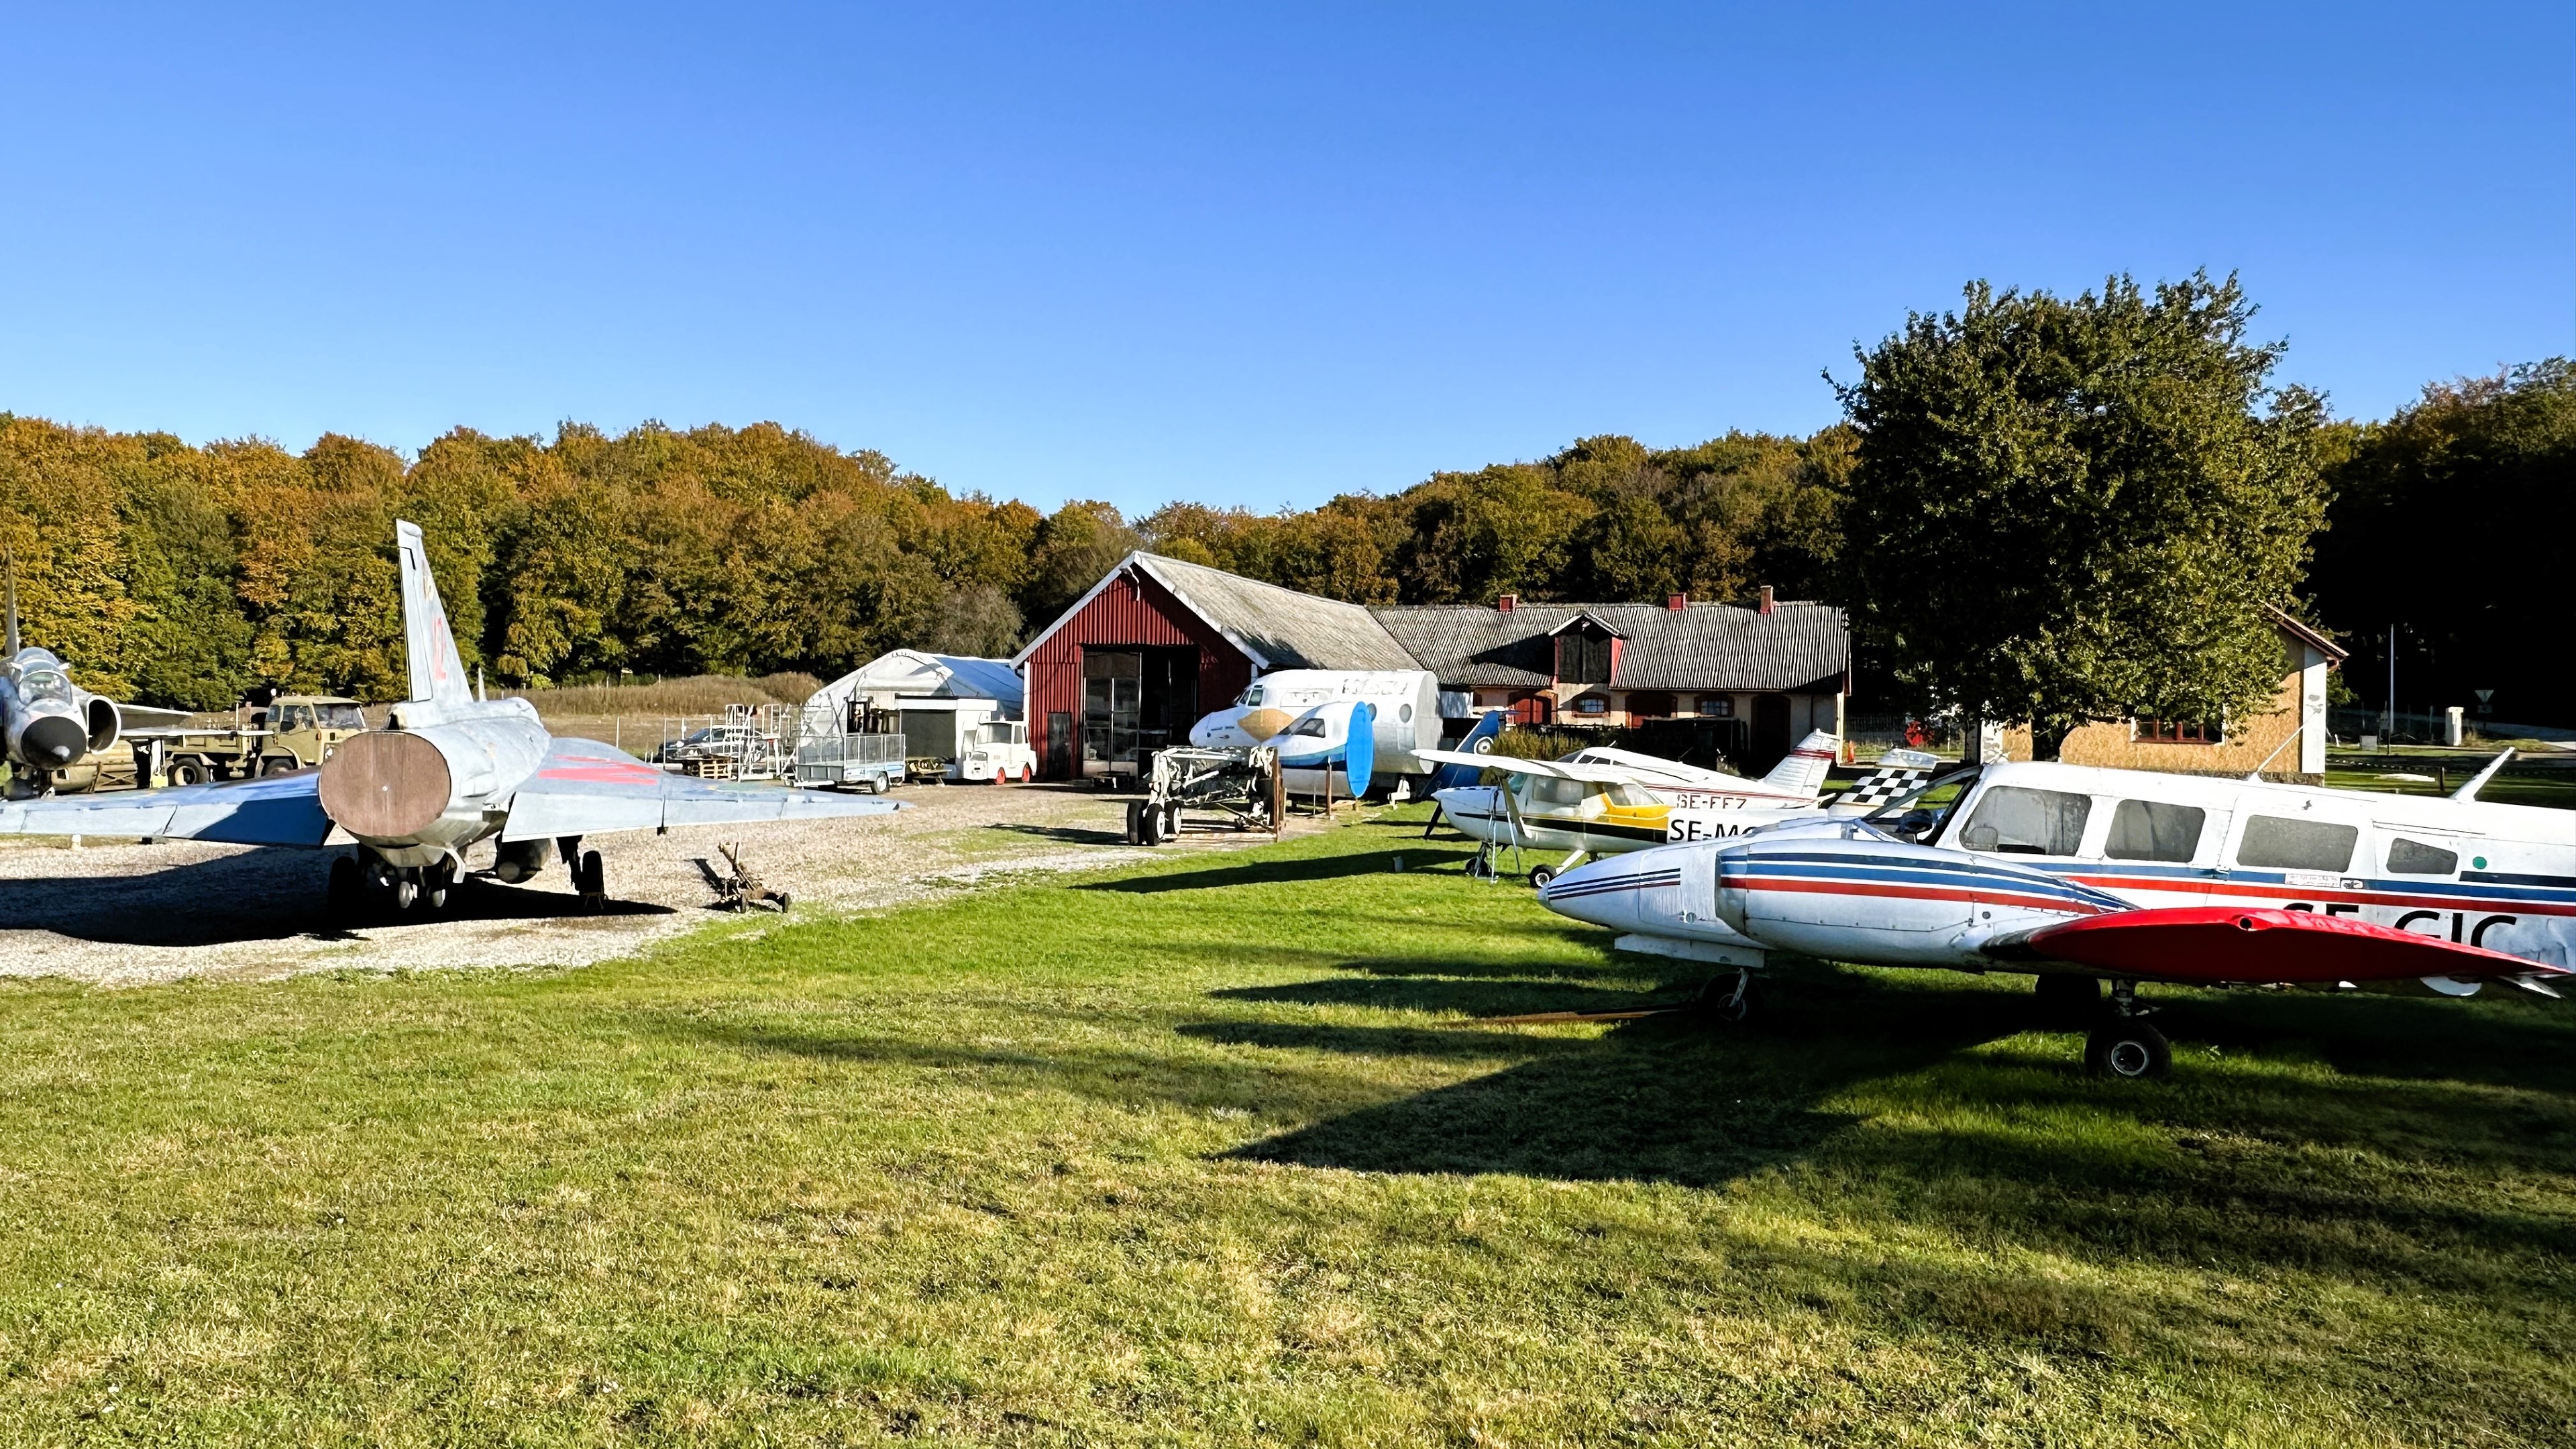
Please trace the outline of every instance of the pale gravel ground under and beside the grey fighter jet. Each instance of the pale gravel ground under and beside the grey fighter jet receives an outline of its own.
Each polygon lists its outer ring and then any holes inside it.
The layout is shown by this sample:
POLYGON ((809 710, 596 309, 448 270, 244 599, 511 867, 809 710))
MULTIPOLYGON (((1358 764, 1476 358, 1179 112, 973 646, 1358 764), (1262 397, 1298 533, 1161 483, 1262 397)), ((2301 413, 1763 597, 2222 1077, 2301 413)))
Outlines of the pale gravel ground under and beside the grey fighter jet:
MULTIPOLYGON (((616 833, 587 843, 608 864, 605 913, 585 915, 562 864, 528 884, 466 879, 446 910, 355 928, 325 915, 340 851, 263 851, 193 841, 0 843, 0 975, 149 985, 265 980, 314 969, 580 967, 729 915, 701 869, 737 843, 796 913, 868 910, 1023 871, 1149 859, 1121 843, 1126 799, 1079 786, 912 786, 894 815, 616 833)), ((1296 828, 1296 825, 1291 825, 1296 828)), ((1267 841, 1193 828, 1162 851, 1267 841)), ((492 846, 466 864, 489 866, 492 846)))

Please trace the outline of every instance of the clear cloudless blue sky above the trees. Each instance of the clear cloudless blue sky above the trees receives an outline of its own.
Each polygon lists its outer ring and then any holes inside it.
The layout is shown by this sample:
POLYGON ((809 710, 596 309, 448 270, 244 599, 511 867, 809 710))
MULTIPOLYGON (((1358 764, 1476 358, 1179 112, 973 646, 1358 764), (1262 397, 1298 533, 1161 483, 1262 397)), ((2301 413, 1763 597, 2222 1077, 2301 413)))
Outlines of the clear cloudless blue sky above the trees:
POLYGON ((2239 271, 2385 415, 2576 351, 2576 5, 13 8, 0 407, 762 418, 1054 508, 1834 418, 1960 284, 2239 271))

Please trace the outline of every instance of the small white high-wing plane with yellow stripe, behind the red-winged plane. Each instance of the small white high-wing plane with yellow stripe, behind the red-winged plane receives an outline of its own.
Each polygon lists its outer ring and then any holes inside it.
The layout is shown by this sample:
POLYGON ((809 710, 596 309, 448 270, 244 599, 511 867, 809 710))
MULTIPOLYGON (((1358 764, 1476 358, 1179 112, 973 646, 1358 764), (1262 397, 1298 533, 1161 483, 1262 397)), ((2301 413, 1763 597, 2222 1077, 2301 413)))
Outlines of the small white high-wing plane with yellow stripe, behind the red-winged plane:
POLYGON ((1816 730, 1762 779, 1605 745, 1574 750, 1561 761, 1458 750, 1422 750, 1422 761, 1512 776, 1507 786, 1455 784, 1432 799, 1450 825, 1484 843, 1486 861, 1497 848, 1566 851, 1561 861, 1530 871, 1530 884, 1546 887, 1584 856, 1643 851, 1669 841, 1721 841, 1814 817, 1826 807, 1824 776, 1839 750, 1839 737, 1816 730))

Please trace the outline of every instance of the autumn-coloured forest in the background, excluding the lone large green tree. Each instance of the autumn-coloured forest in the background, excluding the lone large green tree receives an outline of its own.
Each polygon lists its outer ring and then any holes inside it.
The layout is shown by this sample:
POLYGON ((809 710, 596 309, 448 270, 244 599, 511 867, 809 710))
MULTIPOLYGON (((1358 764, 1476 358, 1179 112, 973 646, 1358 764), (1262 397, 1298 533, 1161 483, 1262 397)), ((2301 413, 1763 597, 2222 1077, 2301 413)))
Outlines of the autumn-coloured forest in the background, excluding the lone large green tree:
MULTIPOLYGON (((2488 668, 2478 650, 2522 637, 2571 575, 2563 358, 2331 423, 2326 449, 2321 624, 2406 619, 2442 657, 2488 668), (2427 603, 2391 614, 2393 598, 2427 603)), ((459 645, 495 683, 832 676, 904 645, 1010 652, 1133 547, 1355 601, 1744 598, 1759 583, 1844 601, 1855 456, 1850 425, 1692 449, 1605 436, 1303 513, 1123 518, 953 495, 775 423, 459 428, 404 459, 343 436, 296 454, 0 413, 0 544, 28 637, 90 688, 216 709, 263 683, 399 696, 394 516, 428 529, 459 645)), ((2370 678, 2354 683, 2367 699, 2370 678)))

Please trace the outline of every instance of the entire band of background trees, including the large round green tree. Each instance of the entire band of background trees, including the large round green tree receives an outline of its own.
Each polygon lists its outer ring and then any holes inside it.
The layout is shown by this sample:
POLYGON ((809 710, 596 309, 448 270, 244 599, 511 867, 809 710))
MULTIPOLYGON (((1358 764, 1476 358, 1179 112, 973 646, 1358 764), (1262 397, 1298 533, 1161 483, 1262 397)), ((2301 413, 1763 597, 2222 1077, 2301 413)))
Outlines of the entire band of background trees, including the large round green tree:
POLYGON ((2411 637, 2442 657, 2512 652, 2566 578, 2568 364, 2331 420, 2269 382, 2282 353, 2251 315, 2205 276, 1971 286, 1860 351, 1844 420, 1806 438, 1597 436, 1283 513, 1041 513, 775 423, 459 428, 404 459, 0 415, 0 547, 28 639, 93 688, 191 709, 268 683, 399 696, 397 516, 497 686, 1007 655, 1136 547, 1363 603, 1770 583, 1852 606, 1865 694, 2058 727, 2267 694, 2264 603, 2360 632, 2424 598, 2411 637))

